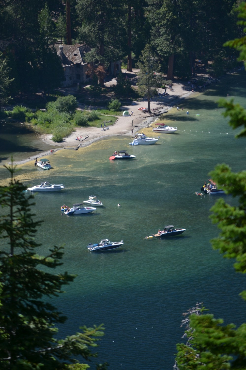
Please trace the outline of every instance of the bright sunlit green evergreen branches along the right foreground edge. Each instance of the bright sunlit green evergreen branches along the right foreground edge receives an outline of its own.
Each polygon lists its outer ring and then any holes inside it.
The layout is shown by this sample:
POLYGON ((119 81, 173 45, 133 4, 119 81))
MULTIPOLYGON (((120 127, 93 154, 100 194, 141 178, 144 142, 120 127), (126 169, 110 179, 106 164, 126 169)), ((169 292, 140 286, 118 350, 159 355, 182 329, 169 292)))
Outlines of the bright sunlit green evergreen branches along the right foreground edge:
MULTIPOLYGON (((239 23, 246 26, 246 3, 239 6, 239 23)), ((246 28, 244 28, 246 31, 246 28)), ((235 47, 240 52, 240 60, 246 60, 246 37, 229 41, 225 46, 235 47)), ((246 67, 246 63, 245 63, 246 67)), ((225 107, 225 116, 230 117, 229 125, 242 127, 238 138, 246 137, 246 110, 233 100, 220 102, 225 107)), ((246 171, 233 173, 226 164, 217 165, 211 177, 218 186, 224 185, 225 192, 238 198, 238 205, 231 206, 224 199, 216 201, 212 207, 211 219, 221 230, 218 238, 212 239, 212 246, 226 258, 236 260, 237 272, 246 273, 246 171)), ((246 291, 240 293, 246 300, 246 291)), ((204 369, 246 369, 246 323, 238 328, 234 324, 225 325, 222 319, 212 314, 190 316, 190 328, 186 334, 189 343, 177 344, 177 366, 179 370, 204 369)))

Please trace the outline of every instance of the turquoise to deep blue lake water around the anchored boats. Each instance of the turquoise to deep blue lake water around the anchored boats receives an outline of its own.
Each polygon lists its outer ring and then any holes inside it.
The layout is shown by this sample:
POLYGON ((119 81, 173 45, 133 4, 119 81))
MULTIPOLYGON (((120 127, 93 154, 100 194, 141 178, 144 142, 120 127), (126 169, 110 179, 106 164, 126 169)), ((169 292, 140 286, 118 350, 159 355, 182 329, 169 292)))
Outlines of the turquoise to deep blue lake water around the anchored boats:
MULTIPOLYGON (((182 101, 183 111, 174 107, 164 115, 177 134, 144 130, 160 136, 155 145, 131 147, 130 137, 105 139, 78 151, 56 152, 49 171, 29 163, 16 176, 27 185, 47 180, 66 186, 57 194, 37 194, 34 212, 44 220, 37 239, 43 245, 40 253, 64 243, 61 270, 77 274, 66 294, 52 300, 69 317, 59 335, 104 323, 105 336, 92 364, 108 361, 110 370, 172 369, 175 345, 182 341, 182 313, 196 302, 226 323, 245 321, 238 296, 243 277, 209 243, 218 235, 208 218, 216 198, 194 194, 216 163, 226 162, 234 171, 244 168, 246 140, 234 138, 216 101, 229 93, 245 106, 245 74, 211 87, 182 101), (108 160, 121 149, 136 158, 108 160), (92 194, 104 205, 96 213, 60 215, 61 205, 92 194), (186 232, 170 240, 144 239, 164 225, 186 232), (102 238, 123 239, 124 245, 108 253, 88 252, 86 245, 102 238)), ((6 170, 1 168, 0 176, 4 179, 6 170)), ((235 203, 231 196, 226 200, 235 203)))

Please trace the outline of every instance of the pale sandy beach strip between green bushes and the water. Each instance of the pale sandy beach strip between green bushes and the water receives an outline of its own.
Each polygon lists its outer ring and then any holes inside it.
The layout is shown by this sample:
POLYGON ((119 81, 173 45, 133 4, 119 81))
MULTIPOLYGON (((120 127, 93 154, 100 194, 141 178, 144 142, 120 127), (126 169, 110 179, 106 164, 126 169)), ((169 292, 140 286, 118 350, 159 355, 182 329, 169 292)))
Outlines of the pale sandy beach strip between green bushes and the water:
MULTIPOLYGON (((110 81, 109 84, 112 84, 110 81)), ((158 89, 160 93, 164 92, 162 88, 158 89)), ((183 98, 186 98, 188 95, 192 94, 190 88, 187 85, 182 83, 173 83, 173 90, 167 90, 167 96, 159 96, 157 95, 150 101, 151 110, 154 108, 159 108, 158 110, 161 112, 168 111, 172 107, 176 107, 180 104, 183 98)), ((128 110, 129 113, 133 112, 128 117, 118 116, 114 125, 109 126, 109 129, 103 130, 103 128, 97 127, 78 127, 76 128, 73 133, 64 138, 63 142, 54 143, 51 138, 52 135, 41 135, 41 139, 53 147, 53 152, 56 152, 60 149, 65 149, 67 147, 76 148, 78 145, 79 148, 87 147, 88 145, 92 144, 95 141, 98 141, 102 138, 110 137, 110 136, 119 136, 119 135, 132 135, 133 133, 138 133, 143 127, 149 127, 149 125, 156 120, 158 117, 152 117, 149 113, 143 113, 138 108, 140 107, 147 107, 148 101, 147 99, 142 99, 141 101, 134 101, 131 105, 124 105, 123 110, 128 110), (81 139, 77 139, 77 138, 81 139)), ((78 109, 83 109, 80 107, 78 109)), ((122 112, 123 112, 122 110, 122 112)), ((153 111, 154 113, 155 111, 153 111)), ((79 150, 80 150, 79 149, 79 150)), ((50 151, 42 152, 39 157, 46 157, 47 155, 51 155, 50 151)), ((20 161, 15 161, 14 164, 23 164, 28 161, 33 161, 35 156, 31 156, 27 159, 22 159, 20 161)))

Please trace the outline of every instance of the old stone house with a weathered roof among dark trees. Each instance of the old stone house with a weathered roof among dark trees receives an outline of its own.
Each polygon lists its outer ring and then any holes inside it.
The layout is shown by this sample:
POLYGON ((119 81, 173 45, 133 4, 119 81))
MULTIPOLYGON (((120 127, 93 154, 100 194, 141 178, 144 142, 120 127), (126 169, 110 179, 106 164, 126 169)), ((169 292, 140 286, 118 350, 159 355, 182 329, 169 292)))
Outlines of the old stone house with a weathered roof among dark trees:
MULTIPOLYGON (((85 54, 91 49, 89 46, 75 45, 55 45, 57 54, 62 61, 64 78, 62 86, 68 87, 79 84, 89 84, 90 74, 88 73, 88 63, 84 61, 85 54)), ((121 70, 120 61, 112 62, 108 68, 108 75, 113 76, 121 70)))

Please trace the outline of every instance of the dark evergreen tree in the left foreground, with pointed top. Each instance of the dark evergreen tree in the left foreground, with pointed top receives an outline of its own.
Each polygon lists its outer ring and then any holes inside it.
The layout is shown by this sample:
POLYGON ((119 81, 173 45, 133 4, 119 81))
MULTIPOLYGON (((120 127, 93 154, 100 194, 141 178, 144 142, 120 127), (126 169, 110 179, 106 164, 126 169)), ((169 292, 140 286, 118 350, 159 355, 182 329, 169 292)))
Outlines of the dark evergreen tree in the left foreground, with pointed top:
MULTIPOLYGON (((6 166, 5 166, 6 167, 6 166)), ((50 302, 75 275, 52 273, 62 265, 63 248, 54 246, 46 256, 37 254, 37 227, 31 213, 33 196, 15 181, 13 164, 6 167, 11 179, 0 187, 0 368, 6 370, 62 370, 88 368, 89 346, 96 345, 102 327, 81 327, 81 333, 56 339, 56 324, 66 317, 50 302)))

